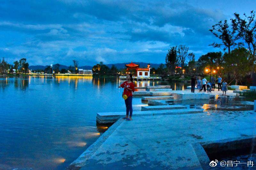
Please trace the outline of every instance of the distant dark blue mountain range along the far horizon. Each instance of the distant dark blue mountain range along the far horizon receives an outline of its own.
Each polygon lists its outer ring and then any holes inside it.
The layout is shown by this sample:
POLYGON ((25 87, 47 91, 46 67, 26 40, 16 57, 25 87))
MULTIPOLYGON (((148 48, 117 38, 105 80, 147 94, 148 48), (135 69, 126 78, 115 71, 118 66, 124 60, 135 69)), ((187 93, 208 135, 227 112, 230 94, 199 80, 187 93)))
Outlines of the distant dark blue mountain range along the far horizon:
MULTIPOLYGON (((139 64, 140 65, 140 68, 147 68, 147 65, 148 63, 143 63, 143 62, 133 62, 134 64, 139 64)), ((108 66, 109 68, 112 67, 112 65, 115 65, 117 69, 124 69, 125 68, 125 64, 129 64, 129 63, 116 63, 116 64, 106 64, 106 66, 108 66)), ((56 64, 53 64, 53 68, 56 64)), ((158 68, 160 66, 160 64, 154 64, 154 63, 150 63, 151 65, 151 68, 158 68)), ((44 70, 46 66, 43 66, 43 65, 31 65, 29 66, 29 70, 44 70)), ((59 69, 68 69, 68 66, 66 65, 61 65, 60 64, 60 67, 59 69)), ((84 70, 92 70, 92 66, 78 66, 78 69, 84 69, 84 70)))

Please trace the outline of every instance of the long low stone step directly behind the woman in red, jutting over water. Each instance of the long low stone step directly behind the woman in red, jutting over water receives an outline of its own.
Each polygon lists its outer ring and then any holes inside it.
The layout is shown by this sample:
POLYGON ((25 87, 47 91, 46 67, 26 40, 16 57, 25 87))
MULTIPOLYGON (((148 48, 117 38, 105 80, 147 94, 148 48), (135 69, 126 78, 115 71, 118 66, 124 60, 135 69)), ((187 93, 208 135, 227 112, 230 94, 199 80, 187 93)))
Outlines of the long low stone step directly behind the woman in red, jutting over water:
MULTIPOLYGON (((154 115, 177 115, 188 113, 202 113, 203 110, 189 108, 189 109, 173 109, 173 110, 150 110, 150 111, 135 111, 132 113, 132 117, 136 116, 154 116, 154 115)), ((106 112, 97 113, 97 122, 100 124, 114 123, 121 117, 124 117, 126 112, 106 112)), ((136 119, 136 118, 135 118, 136 119)))

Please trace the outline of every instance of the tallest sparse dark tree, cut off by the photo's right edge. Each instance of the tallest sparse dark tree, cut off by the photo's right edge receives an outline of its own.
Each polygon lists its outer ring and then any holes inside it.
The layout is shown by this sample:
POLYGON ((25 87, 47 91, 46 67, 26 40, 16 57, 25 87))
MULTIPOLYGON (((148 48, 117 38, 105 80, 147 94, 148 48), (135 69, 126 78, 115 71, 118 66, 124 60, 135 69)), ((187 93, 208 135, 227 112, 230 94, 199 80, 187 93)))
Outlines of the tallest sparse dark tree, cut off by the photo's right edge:
POLYGON ((251 65, 251 78, 255 69, 256 62, 256 21, 254 20, 255 11, 251 11, 250 16, 244 13, 244 19, 238 13, 234 13, 235 19, 231 19, 232 23, 238 25, 238 36, 247 44, 250 52, 249 60, 251 65))

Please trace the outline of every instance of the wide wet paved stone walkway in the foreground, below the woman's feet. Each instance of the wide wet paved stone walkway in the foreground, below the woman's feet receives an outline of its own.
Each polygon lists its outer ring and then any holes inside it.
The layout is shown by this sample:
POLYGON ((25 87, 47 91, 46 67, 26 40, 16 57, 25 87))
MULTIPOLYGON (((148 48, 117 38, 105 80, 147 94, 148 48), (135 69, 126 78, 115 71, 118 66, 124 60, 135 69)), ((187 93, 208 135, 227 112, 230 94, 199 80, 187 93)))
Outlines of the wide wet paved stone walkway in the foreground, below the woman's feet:
POLYGON ((254 111, 120 119, 111 133, 108 129, 96 142, 97 148, 91 149, 90 156, 83 157, 80 166, 90 170, 202 169, 191 144, 256 135, 255 120, 254 111))

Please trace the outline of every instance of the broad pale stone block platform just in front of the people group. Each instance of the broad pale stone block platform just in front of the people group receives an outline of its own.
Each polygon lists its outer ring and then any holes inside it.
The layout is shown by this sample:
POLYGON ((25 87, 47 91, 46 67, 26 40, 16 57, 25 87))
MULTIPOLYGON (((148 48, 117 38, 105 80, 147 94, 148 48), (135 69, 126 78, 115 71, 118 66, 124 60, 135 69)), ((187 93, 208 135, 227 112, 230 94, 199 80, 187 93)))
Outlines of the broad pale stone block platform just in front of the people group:
POLYGON ((172 92, 173 99, 175 100, 197 100, 197 99, 210 99, 210 93, 195 92, 191 91, 174 91, 172 92))

